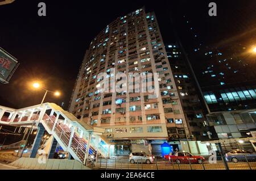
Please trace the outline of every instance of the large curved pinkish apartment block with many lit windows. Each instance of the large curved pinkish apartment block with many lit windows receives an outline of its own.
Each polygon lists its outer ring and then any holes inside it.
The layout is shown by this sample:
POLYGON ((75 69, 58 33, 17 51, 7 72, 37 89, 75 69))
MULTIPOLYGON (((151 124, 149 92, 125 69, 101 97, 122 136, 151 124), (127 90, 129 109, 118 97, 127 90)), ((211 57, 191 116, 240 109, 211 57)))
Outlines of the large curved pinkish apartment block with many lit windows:
MULTIPOLYGON (((105 128, 105 136, 116 143, 118 155, 142 150, 158 154, 160 144, 168 137, 195 140, 177 89, 156 16, 142 8, 115 19, 92 40, 69 111, 90 125, 105 128), (124 81, 120 86, 123 90, 99 89, 104 81, 100 73, 106 73, 110 89, 111 83, 124 81), (127 79, 117 77, 117 73, 125 74, 127 79), (158 77, 141 82, 151 82, 151 88, 159 87, 159 92, 130 92, 128 87, 138 82, 128 81, 129 73, 158 73, 158 77)), ((196 116, 201 117, 201 112, 196 116)))

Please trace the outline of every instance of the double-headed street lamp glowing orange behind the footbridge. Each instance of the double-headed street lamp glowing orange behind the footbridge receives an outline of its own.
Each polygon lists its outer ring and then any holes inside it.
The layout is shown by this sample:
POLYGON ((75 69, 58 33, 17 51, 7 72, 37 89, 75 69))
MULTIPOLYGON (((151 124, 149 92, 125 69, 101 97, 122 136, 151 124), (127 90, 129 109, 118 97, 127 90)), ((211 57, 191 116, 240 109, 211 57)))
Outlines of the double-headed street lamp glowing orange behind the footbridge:
MULTIPOLYGON (((59 96, 59 95, 60 95, 60 92, 59 92, 59 91, 55 91, 55 92, 54 92, 54 91, 49 91, 49 90, 47 90, 46 88, 42 87, 42 86, 40 85, 40 83, 38 83, 38 82, 33 83, 32 86, 33 86, 35 89, 43 89, 44 91, 46 91, 46 92, 44 93, 44 96, 43 96, 42 102, 41 102, 41 104, 40 104, 40 107, 43 106, 44 99, 46 98, 46 95, 47 95, 48 92, 52 92, 55 96, 59 96)), ((36 112, 36 115, 35 115, 35 117, 34 117, 34 120, 33 120, 33 122, 32 122, 32 125, 31 125, 31 129, 30 129, 30 131, 29 131, 28 134, 27 134, 27 138, 26 138, 25 144, 24 144, 24 146, 23 146, 23 148, 22 148, 22 153, 20 154, 20 158, 22 157, 23 151, 24 151, 24 149, 25 149, 25 147, 26 147, 26 145, 27 145, 28 138, 30 137, 31 132, 33 131, 33 126, 34 126, 34 124, 35 124, 35 122, 36 122, 36 117, 38 116, 38 113, 39 113, 39 110, 36 112)), ((19 151, 18 151, 18 154, 19 154, 19 151)), ((18 155, 18 154, 17 154, 17 155, 18 155)))

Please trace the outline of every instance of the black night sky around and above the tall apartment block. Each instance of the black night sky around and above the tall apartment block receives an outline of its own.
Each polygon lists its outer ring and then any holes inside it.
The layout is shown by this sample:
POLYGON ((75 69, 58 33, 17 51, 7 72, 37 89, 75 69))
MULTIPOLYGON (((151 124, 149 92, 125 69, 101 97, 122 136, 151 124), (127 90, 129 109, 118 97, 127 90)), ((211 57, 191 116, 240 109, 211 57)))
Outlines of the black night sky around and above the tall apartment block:
MULTIPOLYGON (((146 7, 155 11, 165 41, 175 41, 168 16, 174 18, 179 36, 186 14, 204 41, 217 43, 255 25, 255 1, 214 1, 217 17, 208 16, 211 1, 57 1, 16 0, 0 6, 0 47, 20 62, 9 84, 0 85, 0 105, 22 108, 39 104, 43 91, 28 89, 40 79, 49 90, 46 102, 68 107, 79 66, 90 41, 118 16, 146 7), (45 2, 47 16, 38 16, 38 3, 45 2), (75 2, 75 3, 72 3, 75 2), (130 2, 127 4, 126 2, 130 2), (235 27, 235 28, 234 28, 235 27)), ((185 40, 184 40, 185 41, 185 40)), ((189 48, 190 42, 183 42, 189 48)))

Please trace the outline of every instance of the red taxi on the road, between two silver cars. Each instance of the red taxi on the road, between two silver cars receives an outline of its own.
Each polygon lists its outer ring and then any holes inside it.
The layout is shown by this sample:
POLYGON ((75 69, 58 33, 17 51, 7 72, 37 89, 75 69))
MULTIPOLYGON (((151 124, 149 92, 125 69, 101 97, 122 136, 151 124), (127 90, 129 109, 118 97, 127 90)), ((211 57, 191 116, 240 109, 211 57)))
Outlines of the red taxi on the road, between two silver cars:
POLYGON ((169 161, 176 162, 177 164, 189 163, 189 161, 190 163, 202 164, 205 161, 205 158, 202 156, 195 156, 191 153, 181 151, 171 152, 168 155, 164 155, 164 158, 169 161))

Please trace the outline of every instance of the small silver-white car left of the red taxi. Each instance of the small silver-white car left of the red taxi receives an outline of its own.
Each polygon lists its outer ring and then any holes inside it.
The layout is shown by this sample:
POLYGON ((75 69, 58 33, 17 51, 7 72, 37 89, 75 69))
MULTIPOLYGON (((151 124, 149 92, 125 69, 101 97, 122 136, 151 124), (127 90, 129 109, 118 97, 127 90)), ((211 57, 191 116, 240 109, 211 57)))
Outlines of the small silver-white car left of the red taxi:
POLYGON ((154 156, 148 155, 144 152, 133 152, 129 156, 130 163, 153 163, 154 162, 154 156))

